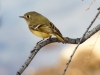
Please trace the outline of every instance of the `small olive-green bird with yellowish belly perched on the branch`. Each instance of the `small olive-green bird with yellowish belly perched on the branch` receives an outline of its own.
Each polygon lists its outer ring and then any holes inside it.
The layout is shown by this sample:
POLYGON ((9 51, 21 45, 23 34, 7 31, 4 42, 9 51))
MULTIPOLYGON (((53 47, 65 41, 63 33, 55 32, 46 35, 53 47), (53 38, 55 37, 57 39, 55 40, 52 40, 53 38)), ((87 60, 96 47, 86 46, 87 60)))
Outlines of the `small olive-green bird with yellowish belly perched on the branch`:
POLYGON ((20 16, 24 18, 28 24, 30 31, 38 37, 51 38, 52 35, 56 36, 62 43, 67 43, 67 40, 62 36, 60 31, 43 15, 31 11, 20 16))

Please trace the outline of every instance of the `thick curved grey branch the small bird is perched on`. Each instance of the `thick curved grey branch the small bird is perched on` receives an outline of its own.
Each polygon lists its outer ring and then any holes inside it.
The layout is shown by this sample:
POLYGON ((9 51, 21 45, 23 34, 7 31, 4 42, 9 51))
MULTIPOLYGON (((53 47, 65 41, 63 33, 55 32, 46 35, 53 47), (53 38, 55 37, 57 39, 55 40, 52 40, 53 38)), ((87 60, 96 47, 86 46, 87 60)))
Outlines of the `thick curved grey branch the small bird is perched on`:
MULTIPOLYGON (((82 41, 81 43, 85 42, 88 38, 90 38, 93 34, 95 34, 96 32, 98 32, 100 30, 100 24, 97 25, 95 28, 93 28, 91 31, 89 31, 85 37, 83 38, 84 41, 82 41)), ((70 42, 69 44, 78 44, 78 42, 80 41, 80 38, 68 38, 68 42, 70 42)), ((21 75, 23 73, 23 71, 28 67, 28 65, 30 64, 30 62, 32 61, 32 59, 35 57, 35 55, 37 54, 37 52, 44 47, 45 45, 48 45, 50 43, 54 43, 54 42, 60 42, 57 38, 51 38, 51 40, 47 39, 43 42, 41 42, 39 45, 36 45, 32 52, 30 53, 30 56, 28 57, 28 59, 25 61, 25 63, 22 65, 22 67, 19 69, 19 71, 17 72, 16 75, 21 75)))

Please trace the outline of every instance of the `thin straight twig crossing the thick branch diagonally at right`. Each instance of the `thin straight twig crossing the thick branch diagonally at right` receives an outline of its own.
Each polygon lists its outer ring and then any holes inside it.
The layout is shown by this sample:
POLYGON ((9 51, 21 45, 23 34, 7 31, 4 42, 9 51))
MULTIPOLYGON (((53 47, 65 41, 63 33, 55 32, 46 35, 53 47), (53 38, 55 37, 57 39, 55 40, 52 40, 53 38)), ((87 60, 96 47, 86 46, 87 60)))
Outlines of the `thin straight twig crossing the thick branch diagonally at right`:
POLYGON ((69 66, 69 64, 70 64, 70 62, 71 62, 71 60, 72 60, 72 57, 74 56, 74 54, 75 54, 77 48, 79 47, 79 45, 80 45, 81 42, 83 41, 83 39, 84 39, 86 33, 88 32, 88 30, 90 29, 90 27, 93 25, 93 23, 95 22, 95 20, 96 20, 97 17, 99 16, 99 14, 100 14, 100 10, 98 11, 98 13, 96 14, 95 18, 93 19, 93 21, 91 22, 91 24, 89 25, 89 27, 87 28, 87 30, 85 31, 85 33, 83 34, 83 36, 82 36, 82 38, 80 39, 78 45, 75 47, 75 49, 74 49, 72 55, 70 56, 69 61, 66 63, 66 68, 64 69, 64 72, 63 72, 62 75, 65 75, 65 73, 66 73, 66 71, 67 71, 67 69, 68 69, 68 66, 69 66))

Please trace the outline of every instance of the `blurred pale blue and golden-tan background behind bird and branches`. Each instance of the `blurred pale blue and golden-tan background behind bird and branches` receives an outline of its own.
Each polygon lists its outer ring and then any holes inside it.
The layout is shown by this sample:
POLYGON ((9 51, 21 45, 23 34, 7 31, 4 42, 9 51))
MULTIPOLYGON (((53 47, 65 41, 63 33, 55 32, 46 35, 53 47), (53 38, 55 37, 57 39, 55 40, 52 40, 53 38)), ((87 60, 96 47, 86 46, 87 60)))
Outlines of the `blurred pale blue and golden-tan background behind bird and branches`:
MULTIPOLYGON (((0 75, 15 75, 41 40, 19 16, 37 11, 47 17, 63 36, 79 38, 98 12, 100 0, 1 0, 0 75)), ((92 28, 100 24, 100 16, 92 28)), ((68 75, 100 75, 100 32, 81 44, 69 66, 68 75), (96 41, 97 40, 97 41, 96 41)), ((76 45, 53 43, 43 47, 22 75, 61 75, 76 45)))

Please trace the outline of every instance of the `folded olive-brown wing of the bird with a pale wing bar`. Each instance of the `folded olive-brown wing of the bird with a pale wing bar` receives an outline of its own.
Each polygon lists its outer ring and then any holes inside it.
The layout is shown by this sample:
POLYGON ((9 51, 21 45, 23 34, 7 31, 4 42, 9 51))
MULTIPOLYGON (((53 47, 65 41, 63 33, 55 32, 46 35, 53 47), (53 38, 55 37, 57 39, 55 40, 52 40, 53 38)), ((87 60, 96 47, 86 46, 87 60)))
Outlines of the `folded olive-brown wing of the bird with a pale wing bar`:
POLYGON ((48 34, 58 34, 59 36, 62 36, 60 31, 54 26, 52 22, 50 22, 49 25, 46 24, 29 25, 29 28, 35 31, 40 31, 48 34))

